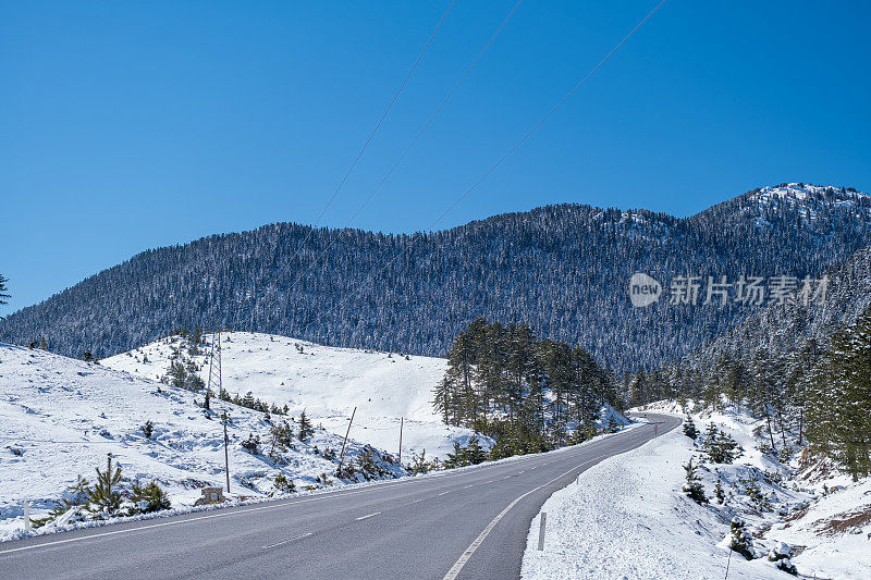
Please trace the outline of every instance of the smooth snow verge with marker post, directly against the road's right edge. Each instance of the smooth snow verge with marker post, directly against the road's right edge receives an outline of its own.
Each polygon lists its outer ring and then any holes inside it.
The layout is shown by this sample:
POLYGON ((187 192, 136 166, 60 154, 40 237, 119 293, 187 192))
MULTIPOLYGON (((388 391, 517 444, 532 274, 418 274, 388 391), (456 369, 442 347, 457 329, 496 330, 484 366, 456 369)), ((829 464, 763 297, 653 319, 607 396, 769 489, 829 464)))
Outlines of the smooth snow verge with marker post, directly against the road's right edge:
MULTIPOLYGON (((721 579, 728 551, 719 547, 727 521, 680 493, 680 468, 692 451, 675 429, 643 446, 605 459, 554 493, 544 550, 532 520, 520 577, 721 579)), ((764 560, 733 554, 732 579, 788 578, 764 560)))

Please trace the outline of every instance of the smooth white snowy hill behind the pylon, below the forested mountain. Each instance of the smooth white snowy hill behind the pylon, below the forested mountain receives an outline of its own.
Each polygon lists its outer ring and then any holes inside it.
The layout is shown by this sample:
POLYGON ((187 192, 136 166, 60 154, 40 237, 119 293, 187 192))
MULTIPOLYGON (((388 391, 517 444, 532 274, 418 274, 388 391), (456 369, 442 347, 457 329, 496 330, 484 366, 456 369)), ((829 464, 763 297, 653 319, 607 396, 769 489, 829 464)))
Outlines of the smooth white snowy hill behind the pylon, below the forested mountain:
MULTIPOLYGON (((187 357, 208 380, 208 348, 187 357)), ((179 336, 150 343, 101 361, 106 367, 152 380, 167 374, 179 336)), ((432 388, 441 381, 446 361, 441 358, 322 346, 286 336, 249 332, 221 334, 223 386, 232 394, 287 405, 291 415, 306 414, 333 433, 344 435, 354 407, 351 434, 378 448, 398 451, 403 427, 403 460, 412 453, 444 457, 454 441, 465 444, 468 429, 444 425, 432 409, 432 388)))

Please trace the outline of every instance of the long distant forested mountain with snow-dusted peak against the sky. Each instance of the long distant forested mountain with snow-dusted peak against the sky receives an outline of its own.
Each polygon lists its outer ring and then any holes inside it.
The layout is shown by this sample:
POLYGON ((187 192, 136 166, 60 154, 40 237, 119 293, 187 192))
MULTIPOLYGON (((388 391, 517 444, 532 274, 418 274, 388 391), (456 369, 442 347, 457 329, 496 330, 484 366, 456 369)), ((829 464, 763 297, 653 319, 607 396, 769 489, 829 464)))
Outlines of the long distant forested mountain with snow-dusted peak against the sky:
POLYGON ((685 219, 560 205, 412 235, 278 223, 134 256, 13 313, 0 340, 106 357, 220 324, 438 356, 482 316, 628 371, 690 353, 756 309, 633 308, 635 272, 666 294, 686 275, 818 275, 871 245, 870 217, 871 197, 852 188, 781 184, 685 219))

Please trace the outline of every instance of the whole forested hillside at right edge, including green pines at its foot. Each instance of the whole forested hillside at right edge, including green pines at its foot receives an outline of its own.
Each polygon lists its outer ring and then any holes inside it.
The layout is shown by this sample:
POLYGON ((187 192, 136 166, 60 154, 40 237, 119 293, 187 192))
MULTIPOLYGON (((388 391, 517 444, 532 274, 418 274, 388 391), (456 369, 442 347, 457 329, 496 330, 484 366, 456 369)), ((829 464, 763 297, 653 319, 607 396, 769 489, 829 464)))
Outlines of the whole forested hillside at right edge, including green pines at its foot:
POLYGON ((810 444, 854 479, 871 474, 871 248, 824 275, 824 299, 769 305, 683 360, 637 372, 631 404, 746 406, 771 454, 810 444))

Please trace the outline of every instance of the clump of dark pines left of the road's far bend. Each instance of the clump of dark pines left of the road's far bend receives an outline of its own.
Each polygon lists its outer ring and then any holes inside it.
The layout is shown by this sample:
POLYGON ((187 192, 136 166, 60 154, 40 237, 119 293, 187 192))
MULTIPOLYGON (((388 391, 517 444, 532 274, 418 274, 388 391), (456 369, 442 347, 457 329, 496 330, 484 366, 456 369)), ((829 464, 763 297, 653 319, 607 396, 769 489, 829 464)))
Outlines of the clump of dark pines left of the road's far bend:
POLYGON ((589 351, 483 318, 454 338, 433 391, 442 420, 493 437, 498 456, 586 437, 605 403, 624 407, 613 374, 589 351))

